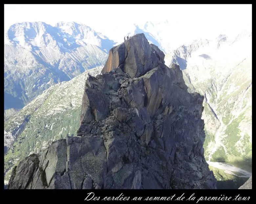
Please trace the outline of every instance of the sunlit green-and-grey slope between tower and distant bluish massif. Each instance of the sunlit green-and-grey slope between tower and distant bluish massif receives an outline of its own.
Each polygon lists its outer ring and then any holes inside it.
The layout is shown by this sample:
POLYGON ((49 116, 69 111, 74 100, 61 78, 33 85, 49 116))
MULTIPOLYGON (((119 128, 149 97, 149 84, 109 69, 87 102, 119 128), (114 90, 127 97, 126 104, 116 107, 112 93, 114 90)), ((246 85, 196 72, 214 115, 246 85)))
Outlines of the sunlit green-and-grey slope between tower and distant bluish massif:
MULTIPOLYGON (((39 153, 52 141, 66 138, 67 134, 76 134, 83 97, 82 87, 88 73, 95 76, 100 74, 101 69, 102 66, 93 68, 70 81, 53 85, 5 122, 5 174, 27 155, 39 153)), ((8 179, 7 173, 6 182, 8 179)))

